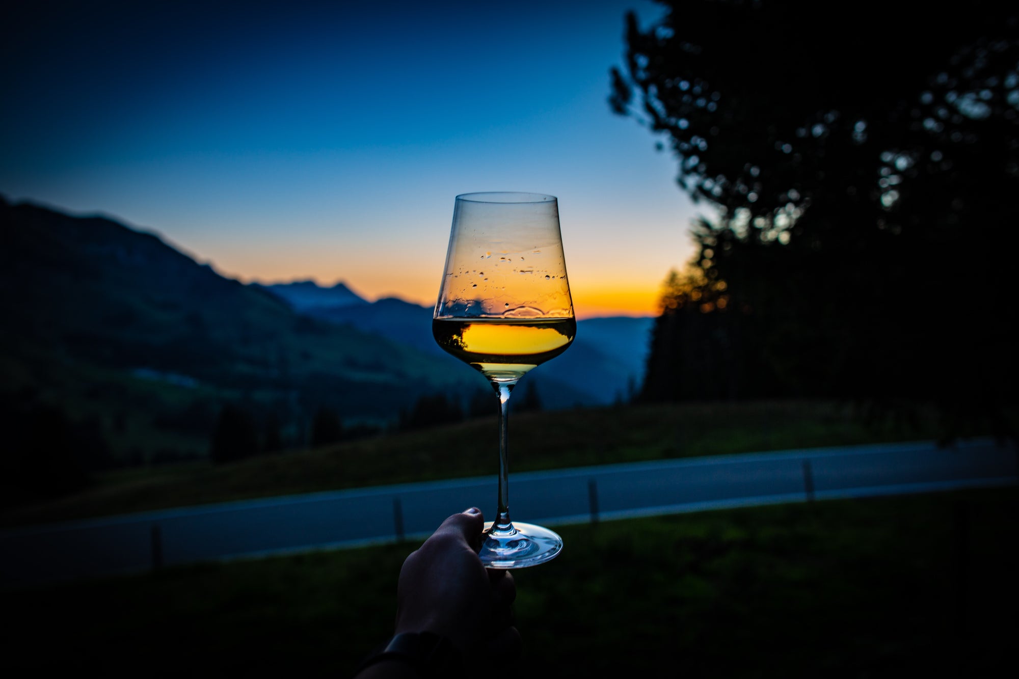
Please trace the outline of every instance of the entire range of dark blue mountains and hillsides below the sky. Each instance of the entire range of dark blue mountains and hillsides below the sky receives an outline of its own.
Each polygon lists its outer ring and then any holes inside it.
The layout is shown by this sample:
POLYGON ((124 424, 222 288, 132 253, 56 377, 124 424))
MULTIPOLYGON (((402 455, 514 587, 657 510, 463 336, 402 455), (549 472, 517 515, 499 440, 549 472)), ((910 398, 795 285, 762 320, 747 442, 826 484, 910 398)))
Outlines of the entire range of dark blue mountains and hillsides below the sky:
MULTIPOLYGON (((488 388, 435 345, 427 307, 368 303, 343 283, 245 285, 102 216, 0 198, 0 413, 14 448, 66 430, 43 438, 92 441, 70 453, 89 468, 204 458, 228 404, 264 448, 286 448, 309 442, 322 408, 387 425, 424 395, 466 407, 488 388)), ((581 321, 527 384, 545 408, 618 401, 640 382, 650 324, 581 321)))

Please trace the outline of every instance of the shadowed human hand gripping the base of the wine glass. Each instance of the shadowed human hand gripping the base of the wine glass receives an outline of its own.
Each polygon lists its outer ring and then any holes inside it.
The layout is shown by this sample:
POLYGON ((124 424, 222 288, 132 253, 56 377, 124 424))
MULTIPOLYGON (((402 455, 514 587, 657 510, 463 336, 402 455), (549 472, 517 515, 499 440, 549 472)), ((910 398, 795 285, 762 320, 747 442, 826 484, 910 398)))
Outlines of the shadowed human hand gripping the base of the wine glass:
POLYGON ((511 618, 513 575, 486 569, 472 547, 484 521, 477 508, 443 521, 404 562, 396 591, 396 633, 441 634, 466 663, 488 650, 515 658, 522 647, 511 618))

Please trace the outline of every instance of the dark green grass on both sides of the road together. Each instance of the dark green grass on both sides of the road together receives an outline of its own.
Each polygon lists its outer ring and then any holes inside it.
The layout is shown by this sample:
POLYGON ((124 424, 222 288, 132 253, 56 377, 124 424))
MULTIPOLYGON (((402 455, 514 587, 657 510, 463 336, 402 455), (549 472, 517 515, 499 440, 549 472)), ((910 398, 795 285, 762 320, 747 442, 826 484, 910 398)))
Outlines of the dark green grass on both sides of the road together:
MULTIPOLYGON (((630 405, 521 413, 513 469, 933 435, 848 404, 630 405)), ((496 422, 390 433, 225 465, 108 472, 7 525, 242 498, 491 474, 496 422)), ((517 571, 538 676, 993 674, 1013 663, 1019 492, 816 502, 559 527, 517 571)), ((18 671, 348 676, 390 633, 413 542, 236 560, 4 592, 18 671)), ((499 661, 493 660, 494 666, 499 661)), ((498 676, 497 668, 486 673, 498 676)), ((511 672, 509 674, 513 674, 511 672)))

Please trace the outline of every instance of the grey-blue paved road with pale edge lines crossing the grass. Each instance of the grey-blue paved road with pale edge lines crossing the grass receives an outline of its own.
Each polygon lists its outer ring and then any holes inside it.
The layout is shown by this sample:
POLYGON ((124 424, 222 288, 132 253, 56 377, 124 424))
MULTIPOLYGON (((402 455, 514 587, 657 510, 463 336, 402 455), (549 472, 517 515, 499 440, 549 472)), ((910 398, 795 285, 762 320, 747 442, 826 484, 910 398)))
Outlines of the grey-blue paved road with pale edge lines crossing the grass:
MULTIPOLYGON (((1017 482, 990 440, 753 453, 511 475, 512 516, 543 524, 1017 482)), ((494 477, 225 503, 0 531, 3 586, 156 566, 420 538, 449 514, 494 510, 494 477)), ((570 545, 566 545, 569 551, 570 545)))

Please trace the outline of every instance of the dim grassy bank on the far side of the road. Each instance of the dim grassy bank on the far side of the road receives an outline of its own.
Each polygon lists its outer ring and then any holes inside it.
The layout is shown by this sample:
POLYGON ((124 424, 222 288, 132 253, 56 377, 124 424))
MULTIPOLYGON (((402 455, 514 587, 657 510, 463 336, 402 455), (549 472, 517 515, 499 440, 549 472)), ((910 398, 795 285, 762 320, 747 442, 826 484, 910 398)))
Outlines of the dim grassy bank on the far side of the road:
MULTIPOLYGON (((753 451, 880 442, 934 435, 865 426, 823 402, 665 404, 511 417, 513 472, 753 451)), ((239 463, 167 465, 107 474, 75 495, 8 509, 0 525, 367 485, 495 474, 494 417, 239 463)))

